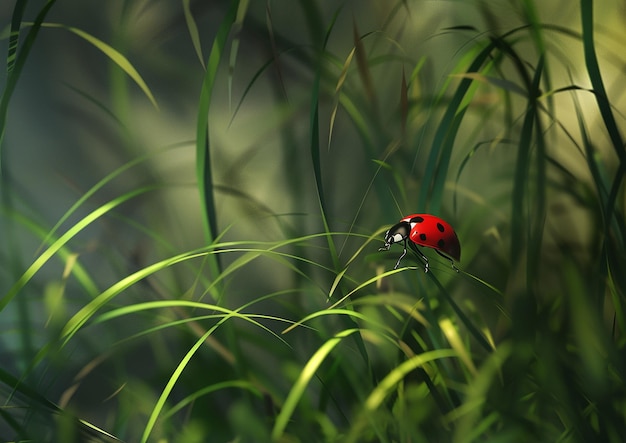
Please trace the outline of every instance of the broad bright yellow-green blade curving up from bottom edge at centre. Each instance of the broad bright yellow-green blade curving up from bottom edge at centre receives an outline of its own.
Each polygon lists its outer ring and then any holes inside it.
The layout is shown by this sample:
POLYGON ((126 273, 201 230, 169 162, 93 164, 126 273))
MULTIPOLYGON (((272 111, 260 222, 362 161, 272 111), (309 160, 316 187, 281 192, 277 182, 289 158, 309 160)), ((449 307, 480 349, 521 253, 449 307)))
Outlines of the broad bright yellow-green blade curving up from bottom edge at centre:
POLYGON ((273 441, 279 440, 285 432, 285 429, 287 428, 287 423, 291 419, 291 416, 293 415, 296 406, 300 402, 300 399, 302 398, 306 387, 309 385, 311 379, 315 376, 315 373, 324 362, 328 354, 330 354, 332 350, 339 343, 341 343, 344 338, 354 334, 355 332, 358 333, 359 329, 347 329, 345 331, 341 331, 335 334, 333 338, 324 343, 309 359, 309 361, 302 369, 302 372, 300 372, 300 376, 291 387, 291 390, 289 391, 289 394, 285 399, 285 403, 283 404, 283 407, 281 408, 278 416, 274 421, 274 428, 272 429, 273 441))

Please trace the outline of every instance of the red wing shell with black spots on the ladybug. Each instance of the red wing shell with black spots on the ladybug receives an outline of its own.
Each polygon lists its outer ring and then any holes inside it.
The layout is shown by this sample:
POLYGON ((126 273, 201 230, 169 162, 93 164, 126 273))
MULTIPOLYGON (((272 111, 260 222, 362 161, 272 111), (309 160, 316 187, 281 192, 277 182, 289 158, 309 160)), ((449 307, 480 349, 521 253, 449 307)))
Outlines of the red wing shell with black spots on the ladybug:
POLYGON ((461 260, 461 244, 450 224, 430 214, 411 214, 400 222, 411 225, 412 242, 443 252, 456 261, 461 260))

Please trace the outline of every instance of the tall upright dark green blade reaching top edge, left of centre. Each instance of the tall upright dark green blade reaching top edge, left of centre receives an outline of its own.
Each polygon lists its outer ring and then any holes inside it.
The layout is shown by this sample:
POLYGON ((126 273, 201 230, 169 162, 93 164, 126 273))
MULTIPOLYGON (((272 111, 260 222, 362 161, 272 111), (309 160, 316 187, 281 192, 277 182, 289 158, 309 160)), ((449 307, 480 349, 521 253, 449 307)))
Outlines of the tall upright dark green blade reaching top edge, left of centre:
MULTIPOLYGON (((200 104, 198 107, 198 125, 196 129, 196 174, 198 179, 198 190, 202 204, 204 218, 204 231, 208 243, 217 237, 217 215, 215 211, 215 196, 213 194, 213 173, 211 170, 211 152, 209 142, 209 108, 211 105, 211 94, 217 76, 220 60, 226 46, 226 40, 232 24, 237 16, 239 1, 232 1, 226 16, 222 20, 220 27, 213 40, 207 70, 202 81, 200 92, 200 104)), ((219 272, 219 258, 212 263, 212 271, 219 272)))

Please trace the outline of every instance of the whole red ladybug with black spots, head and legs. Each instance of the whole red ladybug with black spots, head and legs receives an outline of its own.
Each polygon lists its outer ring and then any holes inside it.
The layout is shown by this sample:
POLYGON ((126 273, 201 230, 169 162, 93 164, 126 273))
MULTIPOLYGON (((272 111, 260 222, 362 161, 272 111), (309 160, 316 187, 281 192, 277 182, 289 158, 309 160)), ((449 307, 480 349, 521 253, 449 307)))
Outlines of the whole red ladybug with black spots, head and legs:
MULTIPOLYGON (((404 251, 393 269, 398 269, 406 255, 407 239, 416 245, 433 248, 437 254, 450 260, 452 268, 459 272, 454 266, 454 260, 461 261, 461 244, 448 222, 430 214, 411 214, 393 225, 385 233, 385 245, 379 249, 388 251, 394 243, 404 242, 404 251)), ((428 258, 412 243, 409 245, 424 259, 424 272, 428 272, 428 258)))

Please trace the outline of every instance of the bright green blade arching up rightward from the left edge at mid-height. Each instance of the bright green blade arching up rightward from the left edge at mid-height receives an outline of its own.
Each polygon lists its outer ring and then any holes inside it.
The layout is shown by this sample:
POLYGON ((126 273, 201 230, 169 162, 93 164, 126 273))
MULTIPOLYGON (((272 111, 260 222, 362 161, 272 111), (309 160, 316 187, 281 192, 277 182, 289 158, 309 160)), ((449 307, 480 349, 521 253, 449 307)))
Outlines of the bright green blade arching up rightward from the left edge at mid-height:
POLYGON ((122 203, 132 200, 135 197, 143 195, 147 192, 161 189, 163 186, 145 186, 134 191, 128 192, 120 197, 117 197, 108 203, 100 206, 90 214, 85 216, 82 220, 74 224, 65 234, 59 237, 54 243, 52 243, 48 249, 43 251, 41 255, 28 267, 22 276, 13 284, 11 289, 0 299, 0 312, 6 308, 9 302, 20 292, 20 290, 28 283, 33 276, 43 267, 43 265, 50 260, 63 246, 67 244, 72 238, 74 238, 79 232, 89 226, 91 223, 102 217, 107 212, 118 207, 122 203))

